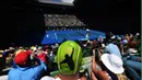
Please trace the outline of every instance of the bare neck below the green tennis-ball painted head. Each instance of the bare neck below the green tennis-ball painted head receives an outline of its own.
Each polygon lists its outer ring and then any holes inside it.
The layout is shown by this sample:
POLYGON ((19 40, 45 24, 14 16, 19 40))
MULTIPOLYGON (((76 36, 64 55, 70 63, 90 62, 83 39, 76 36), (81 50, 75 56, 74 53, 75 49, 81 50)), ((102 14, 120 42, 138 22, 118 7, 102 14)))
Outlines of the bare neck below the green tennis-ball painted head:
POLYGON ((59 78, 61 80, 78 80, 79 79, 79 72, 75 73, 75 75, 62 75, 62 73, 59 73, 59 78))

